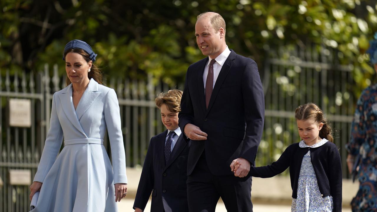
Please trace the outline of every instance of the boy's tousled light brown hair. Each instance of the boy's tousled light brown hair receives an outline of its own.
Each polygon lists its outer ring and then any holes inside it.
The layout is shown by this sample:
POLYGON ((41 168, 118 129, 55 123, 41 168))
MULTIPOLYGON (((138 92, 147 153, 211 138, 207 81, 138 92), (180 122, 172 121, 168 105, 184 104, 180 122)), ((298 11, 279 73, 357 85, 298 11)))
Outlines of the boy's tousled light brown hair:
POLYGON ((170 112, 181 112, 182 93, 180 90, 173 89, 167 93, 162 92, 158 94, 155 99, 157 108, 161 109, 161 105, 166 104, 170 112))

